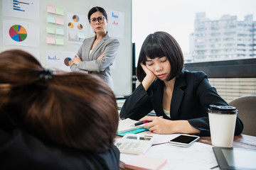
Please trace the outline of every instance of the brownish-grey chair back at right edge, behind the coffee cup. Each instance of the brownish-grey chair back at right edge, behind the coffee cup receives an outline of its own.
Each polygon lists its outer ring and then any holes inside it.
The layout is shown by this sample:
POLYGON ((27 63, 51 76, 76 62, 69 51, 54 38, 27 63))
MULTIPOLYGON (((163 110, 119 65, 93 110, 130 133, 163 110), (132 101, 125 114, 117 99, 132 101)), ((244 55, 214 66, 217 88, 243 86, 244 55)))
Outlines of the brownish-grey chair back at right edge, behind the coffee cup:
POLYGON ((229 105, 238 109, 238 116, 244 125, 242 134, 256 136, 256 94, 235 98, 229 105))

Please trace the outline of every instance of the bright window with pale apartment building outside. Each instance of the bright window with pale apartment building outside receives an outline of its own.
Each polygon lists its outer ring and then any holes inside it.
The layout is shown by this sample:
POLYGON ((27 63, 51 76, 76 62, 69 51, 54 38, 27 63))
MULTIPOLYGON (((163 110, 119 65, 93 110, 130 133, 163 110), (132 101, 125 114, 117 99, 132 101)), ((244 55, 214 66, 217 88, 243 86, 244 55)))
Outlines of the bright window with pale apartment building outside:
MULTIPOLYGON (((190 59, 186 62, 204 62, 207 59, 212 61, 213 58, 207 52, 201 51, 205 47, 215 53, 215 50, 223 50, 223 47, 232 48, 234 54, 229 58, 242 59, 236 49, 252 47, 256 42, 254 0, 180 0, 172 3, 169 0, 133 0, 132 5, 132 39, 136 44, 137 57, 146 36, 158 30, 174 36, 181 50, 190 59), (146 8, 142 8, 145 4, 146 8), (195 51, 198 53, 194 54, 195 51)), ((255 57, 256 49, 252 48, 247 52, 245 59, 255 57)), ((225 57, 216 57, 217 60, 225 60, 225 57)))

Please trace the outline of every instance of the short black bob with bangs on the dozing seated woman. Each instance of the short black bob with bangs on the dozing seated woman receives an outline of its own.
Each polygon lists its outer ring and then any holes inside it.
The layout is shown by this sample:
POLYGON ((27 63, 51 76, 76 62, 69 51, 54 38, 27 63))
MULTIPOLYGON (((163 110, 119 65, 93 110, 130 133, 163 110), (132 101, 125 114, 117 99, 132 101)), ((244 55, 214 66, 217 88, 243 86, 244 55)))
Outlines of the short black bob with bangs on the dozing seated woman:
POLYGON ((146 73, 142 69, 140 63, 145 64, 146 57, 149 57, 150 59, 167 57, 171 64, 171 72, 167 78, 168 81, 177 77, 184 67, 181 47, 178 45, 178 42, 166 32, 155 32, 148 35, 144 40, 137 65, 137 77, 141 82, 144 77, 146 77, 146 73))

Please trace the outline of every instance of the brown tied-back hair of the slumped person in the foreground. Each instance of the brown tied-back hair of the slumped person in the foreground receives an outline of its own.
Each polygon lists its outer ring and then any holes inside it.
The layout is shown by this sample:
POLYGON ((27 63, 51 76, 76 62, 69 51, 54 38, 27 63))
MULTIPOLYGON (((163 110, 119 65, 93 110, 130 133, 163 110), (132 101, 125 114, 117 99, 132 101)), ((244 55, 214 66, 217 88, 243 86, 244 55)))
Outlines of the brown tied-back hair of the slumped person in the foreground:
POLYGON ((0 94, 0 113, 14 128, 87 152, 113 145, 119 121, 116 98, 98 77, 53 74, 27 52, 9 50, 0 53, 0 94))

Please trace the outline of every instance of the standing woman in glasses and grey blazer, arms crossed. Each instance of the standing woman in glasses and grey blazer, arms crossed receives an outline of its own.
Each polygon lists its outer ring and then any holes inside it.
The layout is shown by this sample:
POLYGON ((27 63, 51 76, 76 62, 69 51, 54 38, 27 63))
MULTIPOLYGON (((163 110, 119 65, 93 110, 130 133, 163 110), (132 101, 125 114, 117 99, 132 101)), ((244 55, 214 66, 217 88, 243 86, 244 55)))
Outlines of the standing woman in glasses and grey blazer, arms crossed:
POLYGON ((75 71, 96 74, 101 77, 113 90, 113 80, 110 74, 110 65, 117 56, 119 41, 110 38, 107 33, 107 12, 99 6, 93 7, 88 13, 90 26, 95 36, 87 38, 72 60, 70 69, 75 71))

